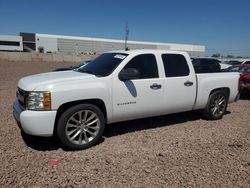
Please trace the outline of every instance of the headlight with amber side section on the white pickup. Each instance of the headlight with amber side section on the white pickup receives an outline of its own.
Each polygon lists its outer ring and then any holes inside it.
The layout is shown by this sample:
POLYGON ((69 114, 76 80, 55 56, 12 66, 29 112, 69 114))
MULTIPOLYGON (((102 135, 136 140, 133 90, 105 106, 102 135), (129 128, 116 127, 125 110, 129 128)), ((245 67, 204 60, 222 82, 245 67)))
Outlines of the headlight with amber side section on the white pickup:
POLYGON ((43 91, 29 92, 28 110, 51 110, 51 93, 43 91))

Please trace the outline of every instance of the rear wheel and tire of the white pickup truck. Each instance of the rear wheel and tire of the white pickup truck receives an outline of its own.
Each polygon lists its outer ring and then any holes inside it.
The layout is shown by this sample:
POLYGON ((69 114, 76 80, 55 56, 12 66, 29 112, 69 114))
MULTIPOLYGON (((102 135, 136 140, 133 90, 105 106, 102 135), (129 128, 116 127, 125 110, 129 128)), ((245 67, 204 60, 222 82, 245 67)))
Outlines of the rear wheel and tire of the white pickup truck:
POLYGON ((223 90, 213 92, 209 98, 205 109, 201 111, 205 119, 221 119, 226 112, 228 104, 228 95, 223 90))

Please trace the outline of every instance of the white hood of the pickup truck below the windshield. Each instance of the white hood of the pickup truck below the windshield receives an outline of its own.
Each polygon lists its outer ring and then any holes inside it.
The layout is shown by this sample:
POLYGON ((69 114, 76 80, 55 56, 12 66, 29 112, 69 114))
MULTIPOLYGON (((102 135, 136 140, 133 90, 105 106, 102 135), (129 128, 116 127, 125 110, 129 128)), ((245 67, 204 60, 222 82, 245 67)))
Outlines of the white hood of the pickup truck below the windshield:
POLYGON ((67 82, 88 78, 95 78, 95 75, 76 71, 49 72, 24 77, 19 80, 18 87, 25 91, 33 91, 37 87, 42 85, 48 85, 48 87, 53 87, 54 84, 59 82, 67 82))

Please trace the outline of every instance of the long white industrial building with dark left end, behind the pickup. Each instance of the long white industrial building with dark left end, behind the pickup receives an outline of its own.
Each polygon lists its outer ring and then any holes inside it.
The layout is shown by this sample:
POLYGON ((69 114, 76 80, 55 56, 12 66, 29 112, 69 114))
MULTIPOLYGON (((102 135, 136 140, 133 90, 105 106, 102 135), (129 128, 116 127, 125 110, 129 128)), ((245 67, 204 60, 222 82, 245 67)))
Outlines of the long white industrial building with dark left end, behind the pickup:
MULTIPOLYGON (((125 48, 124 40, 50 35, 39 33, 20 33, 24 51, 43 51, 64 54, 100 54, 106 51, 125 48)), ((1 43, 0 43, 1 44, 1 43)), ((21 45, 21 42, 20 42, 21 45)), ((165 49, 186 51, 191 56, 204 56, 205 46, 190 44, 127 41, 129 49, 165 49)))

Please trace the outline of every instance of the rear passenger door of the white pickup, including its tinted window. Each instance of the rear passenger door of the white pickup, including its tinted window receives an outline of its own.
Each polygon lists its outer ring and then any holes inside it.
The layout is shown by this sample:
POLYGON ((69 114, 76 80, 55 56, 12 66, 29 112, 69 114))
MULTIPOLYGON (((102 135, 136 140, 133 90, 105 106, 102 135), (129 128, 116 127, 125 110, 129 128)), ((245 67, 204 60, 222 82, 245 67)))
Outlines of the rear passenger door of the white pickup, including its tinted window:
POLYGON ((196 97, 196 77, 181 54, 161 55, 165 78, 164 111, 175 113, 192 110, 196 97))

